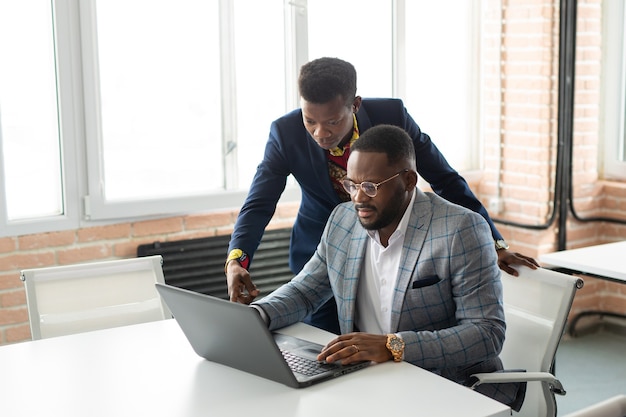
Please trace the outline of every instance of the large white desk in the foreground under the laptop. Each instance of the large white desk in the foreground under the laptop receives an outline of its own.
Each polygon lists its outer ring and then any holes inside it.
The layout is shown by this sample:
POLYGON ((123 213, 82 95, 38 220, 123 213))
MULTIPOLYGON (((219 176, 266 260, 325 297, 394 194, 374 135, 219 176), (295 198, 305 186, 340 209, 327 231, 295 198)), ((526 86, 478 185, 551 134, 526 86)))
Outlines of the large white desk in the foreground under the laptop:
MULTIPOLYGON (((320 343, 329 333, 284 330, 320 343)), ((509 416, 509 408, 408 363, 293 389, 198 357, 174 320, 0 347, 11 417, 509 416)))

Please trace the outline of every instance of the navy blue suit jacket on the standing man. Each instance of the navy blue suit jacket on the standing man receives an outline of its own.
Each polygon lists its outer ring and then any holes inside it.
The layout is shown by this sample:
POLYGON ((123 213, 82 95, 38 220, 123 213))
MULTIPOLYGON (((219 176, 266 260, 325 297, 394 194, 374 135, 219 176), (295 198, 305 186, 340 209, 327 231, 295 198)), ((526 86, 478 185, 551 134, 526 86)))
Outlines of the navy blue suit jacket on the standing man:
MULTIPOLYGON (((417 171, 433 191, 482 215, 494 239, 502 238, 467 182, 420 130, 401 100, 363 99, 356 118, 361 133, 379 124, 406 130, 415 144, 417 171)), ((304 128, 300 109, 272 123, 265 155, 237 218, 229 251, 242 249, 252 260, 291 174, 300 185, 302 201, 291 235, 289 266, 294 274, 302 269, 315 252, 330 213, 341 203, 328 174, 326 152, 304 128)))

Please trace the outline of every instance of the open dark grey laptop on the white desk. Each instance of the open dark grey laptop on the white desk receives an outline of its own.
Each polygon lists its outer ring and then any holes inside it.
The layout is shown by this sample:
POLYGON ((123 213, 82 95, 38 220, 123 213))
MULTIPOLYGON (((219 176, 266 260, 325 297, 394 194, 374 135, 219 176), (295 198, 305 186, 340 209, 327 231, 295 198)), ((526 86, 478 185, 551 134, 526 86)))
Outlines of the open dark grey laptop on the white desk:
POLYGON ((241 371, 302 388, 363 369, 317 361, 323 346, 270 332, 253 308, 210 295, 156 283, 178 325, 201 357, 241 371))

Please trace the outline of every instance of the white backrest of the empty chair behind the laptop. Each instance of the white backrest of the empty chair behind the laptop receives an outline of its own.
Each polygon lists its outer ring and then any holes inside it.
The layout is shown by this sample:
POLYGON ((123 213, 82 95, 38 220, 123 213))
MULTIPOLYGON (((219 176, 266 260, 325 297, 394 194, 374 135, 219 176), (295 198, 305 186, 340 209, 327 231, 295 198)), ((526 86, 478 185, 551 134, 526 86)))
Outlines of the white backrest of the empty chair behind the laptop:
POLYGON ((171 318, 160 255, 21 271, 33 340, 171 318))

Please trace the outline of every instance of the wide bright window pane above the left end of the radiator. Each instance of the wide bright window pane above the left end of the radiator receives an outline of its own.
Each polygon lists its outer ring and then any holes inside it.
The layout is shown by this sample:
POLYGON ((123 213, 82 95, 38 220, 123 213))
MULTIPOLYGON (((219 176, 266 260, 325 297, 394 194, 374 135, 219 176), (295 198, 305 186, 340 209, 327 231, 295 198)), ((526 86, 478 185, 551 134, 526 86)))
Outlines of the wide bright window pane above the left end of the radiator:
POLYGON ((223 188, 218 3, 170 6, 96 2, 101 121, 90 133, 101 135, 106 201, 223 188))

